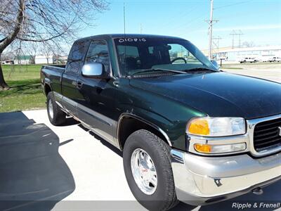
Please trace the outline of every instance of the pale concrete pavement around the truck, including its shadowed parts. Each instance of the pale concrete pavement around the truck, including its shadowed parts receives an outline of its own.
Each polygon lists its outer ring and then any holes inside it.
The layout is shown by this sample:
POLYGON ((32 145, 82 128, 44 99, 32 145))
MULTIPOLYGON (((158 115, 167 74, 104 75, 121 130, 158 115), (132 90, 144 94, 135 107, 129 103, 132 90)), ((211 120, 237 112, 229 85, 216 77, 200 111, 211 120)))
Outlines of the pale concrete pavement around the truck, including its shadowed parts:
MULTIPOLYGON (((260 68, 226 71, 281 81, 281 65, 260 68)), ((126 183, 122 153, 72 119, 54 127, 46 110, 0 113, 0 156, 0 200, 6 201, 0 210, 144 210, 126 183)), ((179 203, 174 210, 280 201, 280 190, 278 181, 261 196, 248 193, 202 207, 179 203)))

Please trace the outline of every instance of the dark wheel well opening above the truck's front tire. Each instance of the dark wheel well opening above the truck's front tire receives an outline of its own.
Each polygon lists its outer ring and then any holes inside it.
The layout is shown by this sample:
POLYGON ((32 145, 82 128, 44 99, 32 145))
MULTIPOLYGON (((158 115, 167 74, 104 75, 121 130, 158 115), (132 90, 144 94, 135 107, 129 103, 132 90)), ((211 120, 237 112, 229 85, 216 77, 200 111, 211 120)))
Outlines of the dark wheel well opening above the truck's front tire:
POLYGON ((165 136, 161 132, 159 132, 159 130, 155 129, 155 127, 152 127, 150 124, 147 124, 134 117, 123 117, 122 121, 119 122, 119 131, 118 131, 118 139, 121 149, 124 148, 126 139, 129 137, 129 135, 131 135, 133 132, 136 132, 139 129, 146 129, 152 132, 153 134, 157 135, 160 139, 162 139, 169 145, 169 142, 165 138, 165 136))

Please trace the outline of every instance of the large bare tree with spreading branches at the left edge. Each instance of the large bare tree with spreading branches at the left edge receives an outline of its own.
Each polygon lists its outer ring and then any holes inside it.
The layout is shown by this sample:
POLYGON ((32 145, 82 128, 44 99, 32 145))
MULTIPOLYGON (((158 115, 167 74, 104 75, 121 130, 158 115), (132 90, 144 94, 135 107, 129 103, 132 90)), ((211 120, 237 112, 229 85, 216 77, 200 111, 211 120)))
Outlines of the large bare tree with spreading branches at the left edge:
MULTIPOLYGON (((0 60, 13 42, 70 42, 107 8, 105 0, 1 0, 0 60)), ((0 89, 8 89, 0 64, 0 89)))

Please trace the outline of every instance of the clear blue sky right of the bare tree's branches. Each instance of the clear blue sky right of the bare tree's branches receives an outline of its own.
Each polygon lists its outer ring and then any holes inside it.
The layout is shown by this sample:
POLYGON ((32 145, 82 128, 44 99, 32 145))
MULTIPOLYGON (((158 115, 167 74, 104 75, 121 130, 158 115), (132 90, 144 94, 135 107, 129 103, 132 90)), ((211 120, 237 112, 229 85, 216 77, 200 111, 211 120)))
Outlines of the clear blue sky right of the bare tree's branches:
MULTIPOLYGON (((109 1, 109 10, 96 15, 95 27, 80 33, 123 33, 123 4, 126 6, 126 32, 183 37, 200 49, 208 47, 210 0, 109 1)), ((241 30, 241 43, 256 46, 281 44, 281 0, 214 0, 214 37, 219 46, 232 45, 233 30, 241 30)), ((238 36, 235 45, 238 44, 238 36)))

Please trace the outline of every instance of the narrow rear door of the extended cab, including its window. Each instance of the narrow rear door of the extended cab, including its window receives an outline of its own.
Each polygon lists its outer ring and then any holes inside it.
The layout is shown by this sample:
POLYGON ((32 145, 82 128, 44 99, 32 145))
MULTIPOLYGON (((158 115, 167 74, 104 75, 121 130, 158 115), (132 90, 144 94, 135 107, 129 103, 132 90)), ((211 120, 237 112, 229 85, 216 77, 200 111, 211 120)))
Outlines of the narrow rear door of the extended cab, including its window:
POLYGON ((87 49, 86 44, 86 41, 74 42, 62 77, 62 104, 63 107, 75 117, 78 117, 77 99, 79 98, 79 84, 77 84, 77 77, 81 66, 84 63, 84 56, 87 49))

